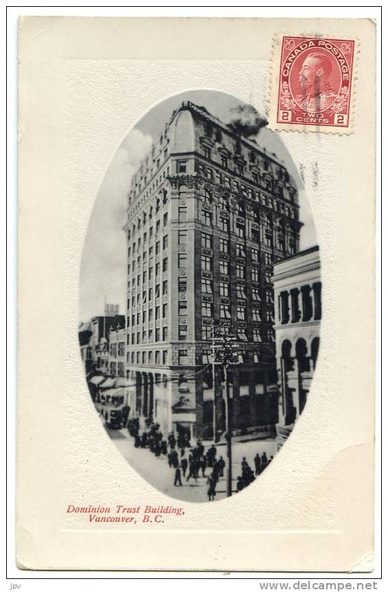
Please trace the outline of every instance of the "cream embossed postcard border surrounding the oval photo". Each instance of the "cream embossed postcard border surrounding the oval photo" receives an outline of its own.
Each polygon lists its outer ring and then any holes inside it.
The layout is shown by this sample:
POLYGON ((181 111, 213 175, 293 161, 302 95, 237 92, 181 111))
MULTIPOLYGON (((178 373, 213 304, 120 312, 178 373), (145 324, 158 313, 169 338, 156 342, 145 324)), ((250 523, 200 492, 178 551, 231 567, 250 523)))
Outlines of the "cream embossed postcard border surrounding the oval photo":
MULTIPOLYGON (((357 109, 367 113, 374 104, 375 85, 371 21, 52 17, 21 21, 16 523, 21 569, 365 569, 359 566, 373 552, 374 110, 369 118, 356 120, 350 136, 319 141, 315 134, 284 136, 291 156, 294 150, 303 153, 302 142, 309 165, 314 160, 323 167, 330 165, 335 154, 336 167, 330 171, 331 192, 319 189, 315 195, 312 184, 306 187, 321 246, 323 346, 314 404, 299 420, 288 449, 279 455, 277 471, 274 464, 271 478, 264 475, 260 486, 251 486, 235 499, 200 507, 185 504, 187 521, 176 528, 89 532, 69 528, 63 519, 62 492, 68 488, 75 501, 86 496, 96 503, 104 497, 119 503, 123 491, 126 496, 131 492, 132 499, 137 496, 139 503, 170 501, 141 482, 106 440, 91 415, 78 355, 80 252, 112 154, 135 121, 173 89, 198 88, 202 80, 203 88, 229 88, 255 104, 259 97, 249 78, 240 92, 236 88, 242 65, 254 75, 256 62, 269 75, 274 34, 312 27, 331 36, 340 36, 346 27, 347 36, 360 38, 357 109), (225 38, 227 47, 221 41, 225 38), (86 110, 80 105, 78 114, 69 100, 76 97, 77 86, 64 88, 68 60, 85 60, 85 75, 88 69, 91 78, 98 75, 91 80, 90 104, 86 110), (104 68, 112 60, 117 60, 119 74, 123 60, 132 74, 144 78, 141 100, 133 89, 125 113, 112 113, 122 82, 119 75, 115 81, 104 78, 104 68), (192 73, 187 71, 190 60, 192 73), (161 69, 163 63, 166 71, 161 69), (226 76, 215 70, 222 63, 228 64, 226 76), (152 86, 151 76, 157 85, 152 86), (71 117, 79 117, 83 125, 73 143, 71 117), (333 244, 338 246, 334 252, 333 244), (328 410, 328 400, 336 401, 335 414, 328 410), (319 416, 325 429, 315 423, 319 416), (89 417, 88 439, 84 421, 89 417), (317 472, 308 473, 304 466, 315 466, 317 472), (279 495, 282 488, 287 493, 282 507, 273 508, 271 491, 279 495), (334 500, 333 506, 327 506, 328 499, 334 500), (274 517, 271 528, 254 527, 258 512, 274 517), (281 518, 276 520, 277 512, 281 518), (301 527, 287 527, 284 515, 301 527), (238 521, 233 523, 235 517, 238 521)), ((79 66, 82 70, 82 62, 79 66)), ((124 66, 124 72, 128 68, 124 66)), ((368 565, 366 569, 371 569, 368 565)))

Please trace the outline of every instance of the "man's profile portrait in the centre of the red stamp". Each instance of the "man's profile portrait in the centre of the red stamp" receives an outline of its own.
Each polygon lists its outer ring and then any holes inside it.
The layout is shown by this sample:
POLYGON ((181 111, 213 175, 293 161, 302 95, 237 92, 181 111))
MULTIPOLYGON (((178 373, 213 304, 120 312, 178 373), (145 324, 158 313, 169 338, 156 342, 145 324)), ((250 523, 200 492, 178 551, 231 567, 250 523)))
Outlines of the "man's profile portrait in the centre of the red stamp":
POLYGON ((330 88, 329 77, 332 64, 326 54, 310 54, 304 60, 299 72, 301 95, 296 102, 301 109, 309 113, 320 113, 330 107, 337 93, 330 88))

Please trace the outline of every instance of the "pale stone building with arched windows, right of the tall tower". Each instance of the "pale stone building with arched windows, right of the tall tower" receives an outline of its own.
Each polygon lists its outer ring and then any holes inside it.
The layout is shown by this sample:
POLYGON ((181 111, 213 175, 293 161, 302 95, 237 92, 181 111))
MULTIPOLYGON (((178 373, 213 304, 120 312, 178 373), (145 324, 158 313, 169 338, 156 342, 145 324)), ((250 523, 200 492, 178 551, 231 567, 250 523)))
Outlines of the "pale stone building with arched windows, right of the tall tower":
POLYGON ((280 384, 277 442, 281 447, 304 410, 317 364, 321 324, 318 246, 273 266, 276 359, 280 384))

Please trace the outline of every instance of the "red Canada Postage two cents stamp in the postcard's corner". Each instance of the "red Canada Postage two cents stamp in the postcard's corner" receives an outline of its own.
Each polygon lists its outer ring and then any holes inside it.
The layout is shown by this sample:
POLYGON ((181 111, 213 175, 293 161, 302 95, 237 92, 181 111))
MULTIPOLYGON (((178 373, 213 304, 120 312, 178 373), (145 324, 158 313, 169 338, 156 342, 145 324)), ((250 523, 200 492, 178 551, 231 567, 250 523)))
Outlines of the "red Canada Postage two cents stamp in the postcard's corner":
POLYGON ((354 40, 283 37, 277 123, 348 128, 354 40))

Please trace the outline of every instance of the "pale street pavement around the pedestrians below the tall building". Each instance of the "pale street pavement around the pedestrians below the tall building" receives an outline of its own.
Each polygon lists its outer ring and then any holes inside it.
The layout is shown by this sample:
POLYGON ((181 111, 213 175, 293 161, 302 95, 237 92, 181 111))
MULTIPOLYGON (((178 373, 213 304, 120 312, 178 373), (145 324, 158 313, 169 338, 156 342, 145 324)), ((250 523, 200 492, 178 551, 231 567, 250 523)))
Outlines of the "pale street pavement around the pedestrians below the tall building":
MULTIPOLYGON (((205 471, 206 476, 198 477, 197 482, 195 482, 192 477, 190 477, 189 482, 187 482, 182 475, 182 486, 174 486, 175 469, 168 466, 168 460, 166 456, 161 455, 156 457, 148 448, 135 448, 134 439, 129 436, 127 429, 107 429, 107 431, 109 436, 111 436, 111 438, 115 441, 115 445, 119 451, 122 453, 122 455, 124 455, 124 458, 126 458, 128 463, 133 466, 133 469, 135 469, 135 471, 137 471, 141 477, 146 479, 148 483, 157 488, 159 491, 183 501, 208 501, 206 481, 207 475, 210 473, 211 469, 207 468, 205 471)), ((203 445, 205 446, 205 449, 207 449, 212 445, 212 442, 203 442, 203 445)), ((255 463, 253 462, 253 458, 255 457, 256 453, 262 455, 263 452, 266 452, 268 458, 275 456, 277 452, 275 438, 269 438, 266 440, 249 440, 247 442, 238 442, 233 440, 233 495, 236 495, 237 477, 241 475, 242 458, 246 458, 248 464, 251 466, 251 469, 254 471, 255 463)), ((227 462, 227 451, 225 445, 217 445, 217 458, 220 458, 221 455, 225 462, 227 462)), ((188 456, 188 451, 186 452, 186 456, 188 456)), ((220 478, 216 486, 216 500, 227 497, 225 479, 226 469, 227 467, 225 467, 224 477, 220 478)), ((270 471, 271 466, 269 466, 269 468, 266 470, 270 471)), ((202 475, 202 471, 200 471, 200 475, 202 475)))

